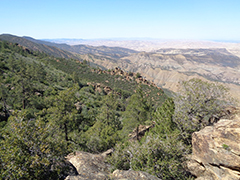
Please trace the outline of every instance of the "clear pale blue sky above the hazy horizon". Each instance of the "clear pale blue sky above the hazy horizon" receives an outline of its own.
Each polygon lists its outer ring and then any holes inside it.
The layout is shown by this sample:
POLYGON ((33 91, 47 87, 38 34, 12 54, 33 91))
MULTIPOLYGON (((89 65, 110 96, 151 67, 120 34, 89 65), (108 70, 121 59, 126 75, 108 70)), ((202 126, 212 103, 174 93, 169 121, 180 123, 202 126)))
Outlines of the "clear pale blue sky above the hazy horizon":
POLYGON ((0 34, 240 40, 240 0, 0 0, 0 34))

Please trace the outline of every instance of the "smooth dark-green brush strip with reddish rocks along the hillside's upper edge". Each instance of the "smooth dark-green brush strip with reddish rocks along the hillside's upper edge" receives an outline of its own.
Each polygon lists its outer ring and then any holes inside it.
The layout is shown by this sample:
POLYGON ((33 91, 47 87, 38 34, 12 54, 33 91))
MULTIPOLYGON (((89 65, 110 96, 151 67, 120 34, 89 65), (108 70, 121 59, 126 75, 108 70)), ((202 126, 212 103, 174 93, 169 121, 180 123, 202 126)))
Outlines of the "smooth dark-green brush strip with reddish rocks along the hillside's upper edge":
MULTIPOLYGON (((16 44, 11 44, 11 46, 16 47, 17 49, 23 48, 22 46, 16 44)), ((30 53, 30 55, 34 55, 35 52, 24 51, 25 56, 27 56, 28 53, 30 53)), ((128 73, 125 73, 120 69, 119 72, 121 73, 118 73, 116 70, 102 71, 100 69, 90 67, 87 62, 80 62, 74 59, 55 58, 50 56, 46 56, 41 59, 38 55, 35 56, 36 58, 33 58, 30 61, 48 64, 48 66, 52 67, 52 72, 60 71, 62 73, 66 73, 70 76, 70 79, 74 77, 85 85, 93 86, 96 91, 101 91, 103 93, 115 91, 118 94, 125 93, 130 96, 139 86, 136 77, 131 75, 129 78, 128 73)), ((29 61, 28 58, 25 57, 21 59, 29 61)), ((136 76, 136 74, 134 76, 136 76)), ((141 84, 145 95, 148 96, 148 99, 152 98, 156 105, 161 104, 166 99, 167 96, 155 84, 150 82, 141 84)))

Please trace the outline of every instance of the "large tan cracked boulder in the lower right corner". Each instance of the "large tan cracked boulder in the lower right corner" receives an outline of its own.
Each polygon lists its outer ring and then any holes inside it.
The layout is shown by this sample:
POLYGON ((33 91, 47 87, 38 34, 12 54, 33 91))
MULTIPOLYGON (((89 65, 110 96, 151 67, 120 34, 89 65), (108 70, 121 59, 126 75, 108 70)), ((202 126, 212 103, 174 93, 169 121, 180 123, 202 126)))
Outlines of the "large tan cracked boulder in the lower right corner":
POLYGON ((240 117, 223 119, 192 135, 188 168, 197 180, 240 179, 240 117))

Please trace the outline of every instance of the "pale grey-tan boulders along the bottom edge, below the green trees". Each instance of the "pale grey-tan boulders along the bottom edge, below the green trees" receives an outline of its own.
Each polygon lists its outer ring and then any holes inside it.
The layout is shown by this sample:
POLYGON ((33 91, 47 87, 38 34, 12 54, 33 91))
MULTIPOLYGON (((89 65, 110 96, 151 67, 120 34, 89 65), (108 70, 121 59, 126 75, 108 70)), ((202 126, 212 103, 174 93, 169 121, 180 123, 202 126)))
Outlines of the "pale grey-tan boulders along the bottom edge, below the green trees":
POLYGON ((159 180, 146 172, 115 170, 110 172, 111 166, 104 162, 105 157, 112 150, 102 154, 76 152, 69 154, 67 160, 76 168, 78 175, 69 175, 66 180, 159 180))

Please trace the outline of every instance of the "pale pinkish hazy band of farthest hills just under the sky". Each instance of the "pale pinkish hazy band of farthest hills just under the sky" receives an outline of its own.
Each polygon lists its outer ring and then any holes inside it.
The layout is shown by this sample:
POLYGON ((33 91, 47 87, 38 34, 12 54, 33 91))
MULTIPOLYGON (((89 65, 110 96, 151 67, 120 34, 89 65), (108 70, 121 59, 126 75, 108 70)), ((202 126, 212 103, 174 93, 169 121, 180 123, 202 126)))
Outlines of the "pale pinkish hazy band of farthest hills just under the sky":
POLYGON ((153 38, 111 38, 111 39, 46 39, 54 43, 66 43, 68 45, 90 45, 90 46, 109 46, 123 47, 136 51, 158 50, 160 48, 227 48, 235 49, 239 47, 239 41, 226 40, 171 40, 171 39, 153 39, 153 38))

